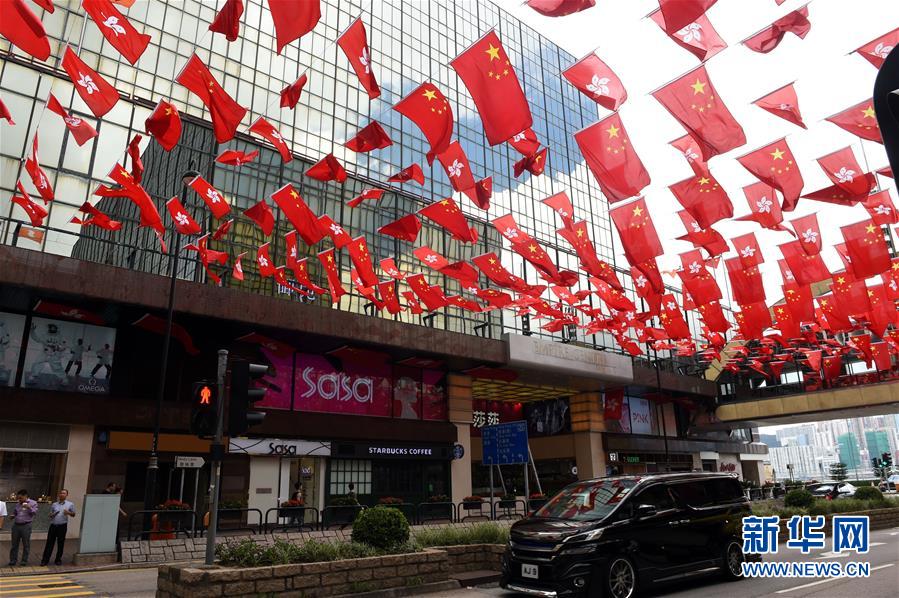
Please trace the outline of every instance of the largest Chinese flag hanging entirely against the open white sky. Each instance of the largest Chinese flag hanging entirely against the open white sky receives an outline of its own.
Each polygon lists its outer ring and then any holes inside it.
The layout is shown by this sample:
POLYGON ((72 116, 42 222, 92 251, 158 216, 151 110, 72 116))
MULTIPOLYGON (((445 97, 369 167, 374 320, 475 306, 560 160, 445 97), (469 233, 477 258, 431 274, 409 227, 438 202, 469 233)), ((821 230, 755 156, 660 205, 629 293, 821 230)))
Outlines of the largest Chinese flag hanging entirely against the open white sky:
POLYGON ((699 143, 704 161, 746 143, 743 128, 721 101, 705 66, 693 69, 652 95, 699 143))

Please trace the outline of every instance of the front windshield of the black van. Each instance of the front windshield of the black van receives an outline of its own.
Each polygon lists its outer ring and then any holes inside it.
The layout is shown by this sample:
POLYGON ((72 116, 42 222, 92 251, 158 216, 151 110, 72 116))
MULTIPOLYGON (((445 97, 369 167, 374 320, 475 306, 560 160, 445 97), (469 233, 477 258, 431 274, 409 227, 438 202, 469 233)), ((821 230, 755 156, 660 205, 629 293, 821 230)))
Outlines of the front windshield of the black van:
POLYGON ((630 493, 639 480, 598 480, 563 488, 534 517, 598 521, 630 493))

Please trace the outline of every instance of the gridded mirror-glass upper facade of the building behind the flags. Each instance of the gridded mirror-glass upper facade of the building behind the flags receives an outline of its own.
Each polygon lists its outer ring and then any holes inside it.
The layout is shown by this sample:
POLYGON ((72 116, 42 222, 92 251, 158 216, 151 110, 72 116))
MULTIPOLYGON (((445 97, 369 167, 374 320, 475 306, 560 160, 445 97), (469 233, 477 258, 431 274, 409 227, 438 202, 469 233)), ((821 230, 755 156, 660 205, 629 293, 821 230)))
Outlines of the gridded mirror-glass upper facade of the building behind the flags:
MULTIPOLYGON (((330 215, 352 236, 365 235, 374 263, 393 257, 401 270, 424 272, 431 284, 440 284, 447 294, 462 292, 463 296, 473 298, 463 292, 455 280, 445 278, 419 262, 412 255, 415 247, 428 245, 451 262, 496 251, 509 270, 528 282, 540 282, 532 267, 526 267, 518 255, 503 249, 502 239, 489 222, 507 213, 513 214, 518 224, 546 247, 560 268, 578 270, 574 251, 556 235, 561 222, 552 210, 540 203, 541 199, 560 191, 571 197, 576 216, 590 224, 590 236, 599 256, 614 263, 608 203, 572 136, 595 122, 599 113, 593 102, 581 96, 560 75, 576 57, 492 3, 467 0, 323 0, 322 18, 315 29, 285 47, 279 56, 274 50, 274 28, 264 0, 245 0, 240 37, 233 43, 208 31, 220 4, 199 0, 135 3, 126 15, 138 30, 151 35, 152 41, 134 66, 101 36, 96 24, 84 15, 79 0, 57 0, 56 11, 52 14, 38 10, 51 40, 52 55, 46 62, 35 61, 18 49, 8 53, 8 42, 0 39, 0 51, 3 52, 0 97, 17 123, 14 127, 5 123, 0 125, 0 195, 4 197, 0 202, 0 239, 3 243, 167 274, 171 256, 160 253, 159 242, 152 230, 137 227, 137 210, 127 200, 108 198, 97 204, 103 211, 125 222, 121 231, 109 233, 70 223, 83 202, 97 199, 92 194, 101 183, 108 183, 106 175, 111 168, 126 159, 128 142, 135 134, 144 133, 144 121, 156 102, 167 99, 181 110, 184 124, 181 141, 173 151, 164 152, 145 136, 141 144, 146 167, 144 185, 167 225, 165 241, 169 248, 190 241, 175 238, 164 209, 166 200, 182 194, 181 174, 185 170, 198 170, 229 198, 234 227, 224 240, 211 242, 211 247, 226 251, 232 261, 240 253, 249 253, 243 261, 246 279, 237 281, 226 275, 223 282, 226 286, 280 294, 285 299, 310 300, 301 299, 271 278, 260 278, 255 269, 252 258, 256 248, 265 242, 271 243, 275 262, 284 263, 284 234, 290 227, 283 215, 272 206, 277 225, 271 237, 264 237, 261 230, 242 215, 244 209, 263 197, 268 198, 286 183, 300 191, 316 214, 330 215), (382 88, 381 97, 375 100, 369 100, 346 57, 334 43, 359 16, 368 32, 374 73, 382 88), (526 173, 520 179, 512 178, 512 164, 520 156, 506 144, 487 145, 474 104, 449 66, 453 57, 490 28, 496 29, 511 57, 530 102, 533 129, 549 147, 547 168, 542 176, 526 173), (60 57, 66 44, 77 49, 80 57, 112 83, 122 96, 102 121, 87 111, 61 69, 60 57), (209 66, 227 92, 249 110, 238 136, 226 144, 216 143, 203 105, 174 80, 193 52, 209 66), (296 109, 280 108, 280 90, 304 72, 308 83, 296 109), (428 144, 423 135, 414 123, 391 109, 424 81, 435 83, 452 104, 456 137, 468 155, 475 178, 493 177, 494 192, 489 212, 477 209, 461 194, 454 194, 439 163, 428 168, 424 160, 428 144), (44 109, 51 91, 70 112, 88 120, 97 129, 98 137, 84 146, 76 145, 62 119, 44 109), (246 133, 250 123, 260 116, 279 128, 294 152, 293 161, 283 164, 271 146, 246 133), (372 120, 384 126, 393 145, 368 154, 347 150, 343 143, 372 120), (33 191, 21 161, 30 153, 32 137, 38 130, 40 161, 55 188, 56 200, 48 206, 49 216, 43 227, 32 230, 24 212, 6 199, 13 194, 17 180, 22 180, 26 189, 33 191), (260 154, 253 163, 235 168, 214 161, 215 156, 226 148, 259 149, 260 154), (303 176, 309 165, 329 152, 333 152, 349 172, 345 183, 320 183, 303 176), (386 182, 391 174, 414 162, 424 168, 427 180, 423 187, 415 183, 386 182), (381 187, 388 192, 380 202, 367 202, 355 209, 346 206, 347 200, 371 187, 381 187), (376 233, 378 227, 434 200, 450 196, 455 197, 470 223, 477 228, 477 243, 462 244, 452 240, 448 233, 427 220, 415 244, 376 233)), ((215 230, 217 223, 211 221, 208 210, 193 192, 188 193, 184 203, 204 228, 215 230)), ((271 200, 269 204, 272 204, 271 200)), ((302 243, 300 246, 310 257, 313 281, 327 287, 324 273, 314 256, 330 247, 330 242, 326 239, 316 247, 305 247, 302 243)), ((335 308, 361 312, 368 300, 352 289, 348 256, 345 252, 338 255, 344 286, 351 294, 342 298, 335 308)), ((182 252, 182 257, 185 259, 181 262, 179 276, 213 284, 196 261, 196 254, 182 252)), ((639 299, 633 295, 632 284, 624 271, 620 268, 619 276, 639 306, 639 299)), ((482 287, 491 286, 483 276, 480 282, 482 287)), ((400 290, 405 288, 401 285, 400 290)), ((583 276, 580 288, 586 288, 583 276)), ((330 302, 330 297, 311 300, 330 302)), ((589 300, 596 301, 595 298, 589 300)), ((689 313, 691 324, 698 330, 697 322, 692 321, 695 320, 693 312, 689 313)), ((423 318, 406 311, 389 316, 384 311, 381 317, 396 317, 493 338, 502 332, 522 329, 522 319, 507 310, 472 313, 447 307, 431 315, 433 317, 423 318)), ((542 322, 545 320, 531 323, 535 334, 561 338, 568 333, 542 331, 539 329, 542 322)), ((577 335, 577 341, 620 350, 610 336, 598 334, 584 338, 582 331, 577 335)))

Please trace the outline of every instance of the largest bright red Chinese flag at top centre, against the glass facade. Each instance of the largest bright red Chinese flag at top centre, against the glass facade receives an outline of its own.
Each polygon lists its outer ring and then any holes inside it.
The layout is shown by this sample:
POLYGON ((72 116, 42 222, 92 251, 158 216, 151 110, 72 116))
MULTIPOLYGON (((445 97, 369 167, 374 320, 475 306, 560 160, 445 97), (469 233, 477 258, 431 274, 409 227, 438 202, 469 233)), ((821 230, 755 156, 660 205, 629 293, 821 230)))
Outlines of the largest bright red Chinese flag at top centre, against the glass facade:
POLYGON ((498 145, 533 124, 509 56, 491 30, 451 62, 471 94, 490 145, 498 145))

